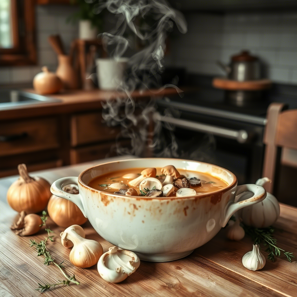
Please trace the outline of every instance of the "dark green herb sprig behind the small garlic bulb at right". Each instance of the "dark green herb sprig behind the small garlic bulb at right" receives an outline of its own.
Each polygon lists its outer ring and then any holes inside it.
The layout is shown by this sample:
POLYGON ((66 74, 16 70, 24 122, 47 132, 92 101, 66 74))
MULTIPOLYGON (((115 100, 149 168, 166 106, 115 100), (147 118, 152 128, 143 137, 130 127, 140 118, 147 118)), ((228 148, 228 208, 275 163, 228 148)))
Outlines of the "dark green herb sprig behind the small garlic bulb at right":
POLYGON ((265 251, 268 252, 268 259, 274 261, 274 257, 280 256, 281 253, 283 253, 287 259, 292 262, 292 258, 295 257, 293 253, 285 252, 284 249, 277 247, 277 239, 273 236, 273 227, 254 228, 243 224, 243 228, 245 233, 252 238, 252 241, 254 241, 255 244, 263 244, 264 246, 267 246, 265 251))

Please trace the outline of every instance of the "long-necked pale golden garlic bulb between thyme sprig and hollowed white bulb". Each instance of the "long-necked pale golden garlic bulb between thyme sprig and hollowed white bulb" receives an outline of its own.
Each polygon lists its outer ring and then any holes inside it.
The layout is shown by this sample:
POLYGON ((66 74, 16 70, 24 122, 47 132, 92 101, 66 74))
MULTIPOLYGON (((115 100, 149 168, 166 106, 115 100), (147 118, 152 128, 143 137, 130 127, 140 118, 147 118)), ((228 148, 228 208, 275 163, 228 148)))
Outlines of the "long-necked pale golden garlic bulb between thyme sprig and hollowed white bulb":
POLYGON ((98 262, 100 256, 103 254, 102 246, 95 240, 86 239, 78 235, 75 229, 80 226, 77 226, 72 225, 68 227, 60 234, 61 239, 66 242, 70 240, 73 243, 69 260, 74 266, 80 268, 91 267, 98 262))

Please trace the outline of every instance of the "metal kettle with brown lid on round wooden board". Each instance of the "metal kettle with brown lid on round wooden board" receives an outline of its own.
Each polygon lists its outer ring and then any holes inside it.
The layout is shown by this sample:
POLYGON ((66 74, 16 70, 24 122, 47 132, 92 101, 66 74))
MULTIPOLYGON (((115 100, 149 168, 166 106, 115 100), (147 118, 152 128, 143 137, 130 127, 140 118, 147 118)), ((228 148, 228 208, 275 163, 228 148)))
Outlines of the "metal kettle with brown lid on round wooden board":
POLYGON ((232 56, 229 66, 218 61, 217 64, 223 69, 229 79, 237 81, 257 80, 261 78, 260 61, 251 56, 247 50, 232 56))

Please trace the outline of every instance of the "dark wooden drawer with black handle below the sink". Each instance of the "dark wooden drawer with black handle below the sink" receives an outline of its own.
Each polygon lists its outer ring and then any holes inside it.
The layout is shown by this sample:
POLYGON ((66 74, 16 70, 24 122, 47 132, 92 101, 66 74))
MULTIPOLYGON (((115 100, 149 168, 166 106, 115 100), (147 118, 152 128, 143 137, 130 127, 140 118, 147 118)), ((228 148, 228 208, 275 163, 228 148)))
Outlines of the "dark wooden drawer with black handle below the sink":
POLYGON ((0 156, 59 147, 56 119, 0 123, 0 156))

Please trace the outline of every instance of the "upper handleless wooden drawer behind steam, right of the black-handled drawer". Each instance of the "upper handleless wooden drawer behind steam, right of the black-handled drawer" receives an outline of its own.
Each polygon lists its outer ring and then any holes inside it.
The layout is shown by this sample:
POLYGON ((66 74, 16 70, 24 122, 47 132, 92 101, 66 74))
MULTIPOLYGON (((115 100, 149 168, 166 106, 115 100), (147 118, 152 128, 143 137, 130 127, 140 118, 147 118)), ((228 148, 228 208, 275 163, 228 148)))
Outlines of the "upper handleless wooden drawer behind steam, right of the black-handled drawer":
POLYGON ((94 143, 115 139, 120 127, 108 127, 102 123, 101 113, 84 113, 71 118, 71 145, 94 143))

